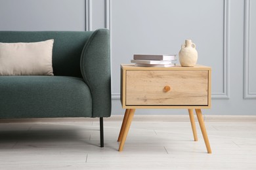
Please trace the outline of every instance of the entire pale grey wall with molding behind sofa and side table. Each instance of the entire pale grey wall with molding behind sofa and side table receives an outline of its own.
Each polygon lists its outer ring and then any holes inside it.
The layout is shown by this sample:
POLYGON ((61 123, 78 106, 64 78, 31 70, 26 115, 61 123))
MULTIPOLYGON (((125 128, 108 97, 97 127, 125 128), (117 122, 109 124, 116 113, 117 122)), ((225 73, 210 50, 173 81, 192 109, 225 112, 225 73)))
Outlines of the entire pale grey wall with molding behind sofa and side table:
MULTIPOLYGON (((124 112, 120 63, 129 63, 135 53, 178 54, 184 40, 192 39, 198 63, 213 70, 212 108, 203 112, 256 115, 256 1, 0 0, 0 23, 0 30, 110 29, 112 114, 124 112)), ((145 113, 187 114, 137 110, 145 113)))

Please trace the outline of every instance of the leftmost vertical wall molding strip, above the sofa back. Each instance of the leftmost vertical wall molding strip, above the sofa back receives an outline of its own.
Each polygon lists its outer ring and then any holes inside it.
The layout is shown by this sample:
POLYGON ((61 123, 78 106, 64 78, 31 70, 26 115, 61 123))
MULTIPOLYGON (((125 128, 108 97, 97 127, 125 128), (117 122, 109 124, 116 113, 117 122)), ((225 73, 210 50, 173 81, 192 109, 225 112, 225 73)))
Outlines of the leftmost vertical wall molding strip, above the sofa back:
POLYGON ((85 0, 85 31, 93 31, 93 3, 85 0))

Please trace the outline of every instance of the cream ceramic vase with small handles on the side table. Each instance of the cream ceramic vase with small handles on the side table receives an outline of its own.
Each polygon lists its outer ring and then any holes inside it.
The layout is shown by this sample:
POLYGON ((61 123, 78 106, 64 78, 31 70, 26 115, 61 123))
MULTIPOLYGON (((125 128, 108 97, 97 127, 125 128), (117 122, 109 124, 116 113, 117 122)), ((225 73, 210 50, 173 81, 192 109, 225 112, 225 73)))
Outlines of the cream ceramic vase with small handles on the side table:
POLYGON ((179 61, 181 66, 194 67, 198 61, 198 52, 196 51, 196 44, 190 39, 186 39, 185 44, 182 44, 179 52, 179 61))

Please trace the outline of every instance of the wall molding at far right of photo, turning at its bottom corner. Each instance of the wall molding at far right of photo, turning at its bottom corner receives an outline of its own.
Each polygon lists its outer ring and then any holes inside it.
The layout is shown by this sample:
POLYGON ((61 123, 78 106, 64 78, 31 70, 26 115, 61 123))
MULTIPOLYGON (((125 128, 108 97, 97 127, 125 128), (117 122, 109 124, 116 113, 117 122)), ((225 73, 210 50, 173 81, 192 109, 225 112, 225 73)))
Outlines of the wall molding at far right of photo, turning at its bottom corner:
POLYGON ((250 92, 249 61, 250 61, 250 22, 251 0, 244 1, 244 99, 256 99, 256 92, 250 92))

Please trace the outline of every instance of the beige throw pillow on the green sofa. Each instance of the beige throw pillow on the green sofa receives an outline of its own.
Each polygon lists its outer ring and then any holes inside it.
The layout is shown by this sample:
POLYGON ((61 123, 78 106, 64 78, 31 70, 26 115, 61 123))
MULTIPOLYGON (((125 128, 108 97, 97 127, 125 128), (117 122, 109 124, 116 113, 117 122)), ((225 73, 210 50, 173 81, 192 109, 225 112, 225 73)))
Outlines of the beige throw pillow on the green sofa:
POLYGON ((0 42, 0 75, 53 75, 53 42, 0 42))

